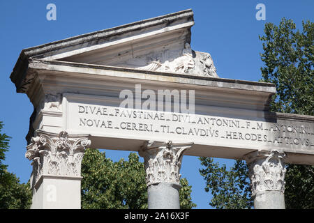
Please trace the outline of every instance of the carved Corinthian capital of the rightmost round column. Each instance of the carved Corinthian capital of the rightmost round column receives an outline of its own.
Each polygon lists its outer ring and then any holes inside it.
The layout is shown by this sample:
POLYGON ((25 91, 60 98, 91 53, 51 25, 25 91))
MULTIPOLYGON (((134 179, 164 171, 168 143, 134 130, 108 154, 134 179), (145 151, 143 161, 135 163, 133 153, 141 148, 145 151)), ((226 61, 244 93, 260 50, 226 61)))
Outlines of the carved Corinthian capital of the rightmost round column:
POLYGON ((285 192, 285 153, 275 150, 256 151, 245 158, 253 197, 265 191, 285 192))

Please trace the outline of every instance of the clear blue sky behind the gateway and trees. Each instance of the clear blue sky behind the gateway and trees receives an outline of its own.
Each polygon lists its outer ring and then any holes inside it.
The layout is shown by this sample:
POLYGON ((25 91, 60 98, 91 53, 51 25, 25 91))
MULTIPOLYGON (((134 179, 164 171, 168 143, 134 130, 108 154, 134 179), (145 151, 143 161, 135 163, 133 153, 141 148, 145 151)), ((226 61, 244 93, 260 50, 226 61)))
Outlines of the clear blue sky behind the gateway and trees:
MULTIPOLYGON (((0 1, 0 121, 10 140, 6 153, 8 170, 27 182, 31 164, 24 157, 33 106, 27 95, 16 93, 10 82, 12 71, 22 49, 33 47, 91 31, 136 22, 179 10, 192 8, 195 25, 191 29, 191 47, 209 52, 220 77, 258 81, 261 78, 260 60, 265 22, 278 24, 282 17, 290 18, 301 29, 302 20, 314 17, 314 1, 0 1), (57 6, 57 20, 46 19, 46 6, 57 6), (266 20, 257 21, 255 6, 264 3, 266 20)), ((127 159, 128 152, 106 151, 107 157, 117 161, 127 159)), ((230 167, 233 160, 216 159, 230 167)), ((198 169, 197 157, 185 156, 182 177, 192 185, 193 202, 197 208, 211 208, 211 194, 204 192, 205 182, 198 169)))

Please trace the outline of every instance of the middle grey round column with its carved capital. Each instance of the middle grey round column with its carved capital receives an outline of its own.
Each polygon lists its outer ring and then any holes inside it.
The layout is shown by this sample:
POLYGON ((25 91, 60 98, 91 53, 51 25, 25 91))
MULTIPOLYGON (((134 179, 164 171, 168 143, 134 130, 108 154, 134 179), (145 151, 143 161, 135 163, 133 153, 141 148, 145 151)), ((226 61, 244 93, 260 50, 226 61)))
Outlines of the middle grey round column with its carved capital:
POLYGON ((147 174, 148 208, 179 209, 181 162, 186 149, 193 143, 173 144, 172 141, 148 141, 142 146, 147 174))

